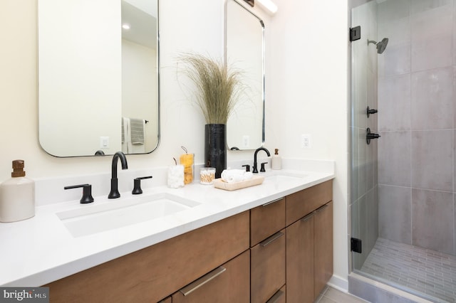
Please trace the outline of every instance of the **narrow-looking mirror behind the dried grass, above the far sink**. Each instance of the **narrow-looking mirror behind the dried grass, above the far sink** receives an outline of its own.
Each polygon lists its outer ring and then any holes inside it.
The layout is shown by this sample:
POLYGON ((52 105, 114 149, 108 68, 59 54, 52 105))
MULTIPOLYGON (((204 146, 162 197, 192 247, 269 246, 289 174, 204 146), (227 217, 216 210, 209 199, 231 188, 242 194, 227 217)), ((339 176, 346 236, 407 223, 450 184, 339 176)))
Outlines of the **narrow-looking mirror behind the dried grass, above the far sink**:
POLYGON ((228 147, 257 149, 264 144, 264 23, 235 0, 227 0, 225 62, 243 70, 248 87, 228 119, 228 147))

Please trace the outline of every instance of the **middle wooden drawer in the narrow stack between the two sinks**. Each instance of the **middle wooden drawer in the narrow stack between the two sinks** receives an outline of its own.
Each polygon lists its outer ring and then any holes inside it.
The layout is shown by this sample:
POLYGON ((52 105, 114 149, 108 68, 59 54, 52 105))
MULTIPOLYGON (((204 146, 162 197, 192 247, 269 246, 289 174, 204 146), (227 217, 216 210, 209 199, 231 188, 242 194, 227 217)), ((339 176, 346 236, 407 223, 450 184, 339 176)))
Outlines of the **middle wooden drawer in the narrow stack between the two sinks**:
POLYGON ((264 303, 285 285, 285 230, 251 248, 251 302, 264 303))

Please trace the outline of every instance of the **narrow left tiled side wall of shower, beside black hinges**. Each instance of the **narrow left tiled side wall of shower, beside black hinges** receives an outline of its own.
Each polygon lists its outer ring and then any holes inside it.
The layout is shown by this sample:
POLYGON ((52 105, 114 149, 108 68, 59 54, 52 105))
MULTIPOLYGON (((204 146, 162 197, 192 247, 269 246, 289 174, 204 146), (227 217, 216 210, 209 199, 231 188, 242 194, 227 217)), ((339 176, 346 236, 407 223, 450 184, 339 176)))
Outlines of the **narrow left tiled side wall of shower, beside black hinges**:
POLYGON ((377 132, 378 115, 366 115, 377 108, 378 63, 374 44, 377 39, 375 1, 352 10, 352 26, 361 26, 361 39, 353 41, 351 108, 351 236, 363 241, 363 252, 353 253, 353 268, 360 269, 378 238, 378 165, 376 139, 366 143, 366 129, 377 132))

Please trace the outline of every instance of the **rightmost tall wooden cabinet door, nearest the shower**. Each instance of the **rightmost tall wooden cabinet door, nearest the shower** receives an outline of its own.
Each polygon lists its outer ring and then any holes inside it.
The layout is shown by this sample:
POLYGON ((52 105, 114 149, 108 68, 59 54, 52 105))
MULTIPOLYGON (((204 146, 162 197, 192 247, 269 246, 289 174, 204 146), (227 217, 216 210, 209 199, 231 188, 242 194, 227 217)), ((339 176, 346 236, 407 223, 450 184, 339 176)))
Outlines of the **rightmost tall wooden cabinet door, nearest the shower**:
POLYGON ((333 275, 333 202, 318 208, 314 216, 315 296, 333 275))

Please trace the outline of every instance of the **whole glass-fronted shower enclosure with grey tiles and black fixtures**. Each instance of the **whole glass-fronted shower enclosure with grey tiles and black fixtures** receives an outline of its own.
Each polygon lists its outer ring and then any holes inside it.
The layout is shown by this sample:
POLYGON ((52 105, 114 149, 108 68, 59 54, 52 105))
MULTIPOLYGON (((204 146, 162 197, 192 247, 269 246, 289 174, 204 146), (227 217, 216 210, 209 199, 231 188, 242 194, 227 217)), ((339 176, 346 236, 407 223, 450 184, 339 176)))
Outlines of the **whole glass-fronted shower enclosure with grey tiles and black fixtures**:
POLYGON ((432 302, 456 302, 456 0, 358 2, 351 267, 432 302))

